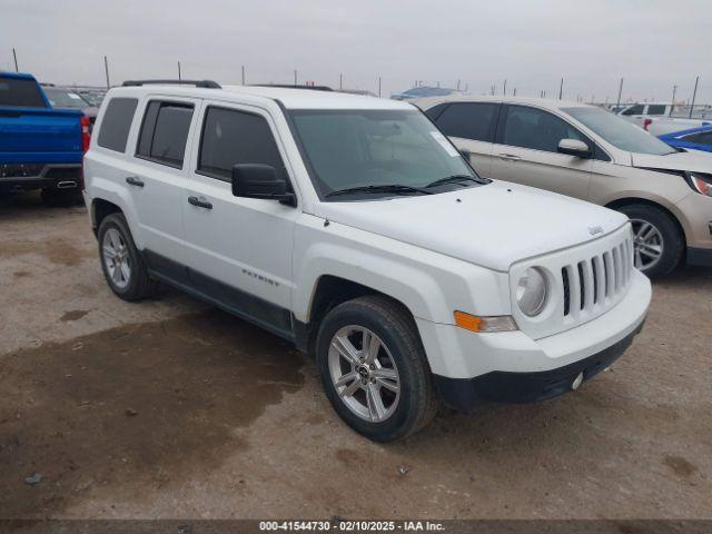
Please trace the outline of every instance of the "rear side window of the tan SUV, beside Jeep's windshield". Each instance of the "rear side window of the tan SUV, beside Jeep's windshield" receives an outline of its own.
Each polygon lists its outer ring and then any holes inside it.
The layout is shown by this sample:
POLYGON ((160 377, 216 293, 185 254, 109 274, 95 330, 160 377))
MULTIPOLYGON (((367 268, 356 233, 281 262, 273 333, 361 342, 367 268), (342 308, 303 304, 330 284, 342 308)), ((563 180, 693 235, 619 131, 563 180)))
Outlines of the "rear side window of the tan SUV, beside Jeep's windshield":
POLYGON ((437 118, 437 126, 449 137, 492 142, 498 103, 451 103, 437 118))

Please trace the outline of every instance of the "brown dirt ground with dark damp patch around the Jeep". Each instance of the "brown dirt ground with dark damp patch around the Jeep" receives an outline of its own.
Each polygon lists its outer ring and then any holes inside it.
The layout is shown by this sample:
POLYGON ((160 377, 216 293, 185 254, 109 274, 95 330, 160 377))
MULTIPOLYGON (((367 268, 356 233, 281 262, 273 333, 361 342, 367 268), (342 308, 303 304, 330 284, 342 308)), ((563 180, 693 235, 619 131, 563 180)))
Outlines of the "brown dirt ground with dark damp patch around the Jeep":
POLYGON ((577 393, 376 445, 288 344, 174 291, 119 300, 86 210, 17 197, 0 204, 0 517, 712 517, 710 317, 712 270, 680 271, 577 393))

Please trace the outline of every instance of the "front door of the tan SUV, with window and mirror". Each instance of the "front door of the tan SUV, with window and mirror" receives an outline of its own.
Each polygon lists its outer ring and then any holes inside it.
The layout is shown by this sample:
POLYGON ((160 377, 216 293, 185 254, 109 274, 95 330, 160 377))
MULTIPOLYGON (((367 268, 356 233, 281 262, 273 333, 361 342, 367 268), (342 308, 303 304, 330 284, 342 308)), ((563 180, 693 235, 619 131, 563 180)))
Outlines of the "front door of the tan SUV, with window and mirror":
POLYGON ((593 159, 558 154, 562 139, 595 144, 548 110, 507 105, 500 115, 492 152, 492 178, 587 199, 593 159))

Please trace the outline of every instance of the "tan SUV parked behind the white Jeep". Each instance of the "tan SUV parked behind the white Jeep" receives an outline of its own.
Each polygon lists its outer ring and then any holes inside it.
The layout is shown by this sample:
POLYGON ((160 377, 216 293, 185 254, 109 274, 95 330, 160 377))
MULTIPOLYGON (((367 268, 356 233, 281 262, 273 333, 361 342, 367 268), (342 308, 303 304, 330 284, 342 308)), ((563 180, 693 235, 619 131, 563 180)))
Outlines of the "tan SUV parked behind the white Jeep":
POLYGON ((635 266, 646 275, 666 275, 683 260, 712 265, 712 156, 678 151, 577 102, 456 96, 414 103, 479 175, 627 215, 635 266))

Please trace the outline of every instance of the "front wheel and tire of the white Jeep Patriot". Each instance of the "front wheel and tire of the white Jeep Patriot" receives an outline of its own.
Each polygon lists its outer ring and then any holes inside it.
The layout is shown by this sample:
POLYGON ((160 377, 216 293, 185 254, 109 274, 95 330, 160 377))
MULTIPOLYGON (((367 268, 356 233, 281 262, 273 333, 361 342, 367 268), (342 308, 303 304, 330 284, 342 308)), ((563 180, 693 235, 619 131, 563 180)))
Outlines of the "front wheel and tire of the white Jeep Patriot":
POLYGON ((336 413, 369 439, 404 438, 426 426, 437 413, 439 399, 417 328, 407 310, 388 298, 359 297, 332 309, 319 327, 316 362, 336 413), (380 344, 375 358, 363 350, 366 334, 360 328, 369 333, 368 339, 375 339, 369 346, 380 344), (357 350, 349 353, 337 339, 346 339, 357 350), (347 353, 349 357, 345 356, 347 353), (360 362, 359 356, 365 360, 360 362), (339 375, 353 380, 337 385, 339 375))

